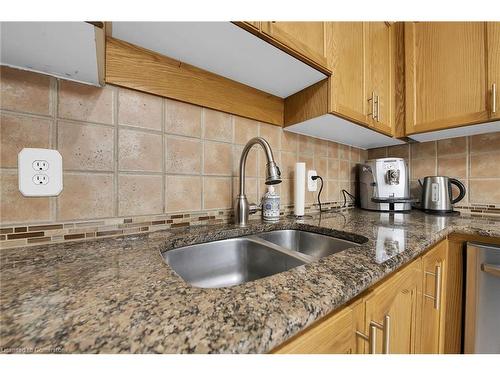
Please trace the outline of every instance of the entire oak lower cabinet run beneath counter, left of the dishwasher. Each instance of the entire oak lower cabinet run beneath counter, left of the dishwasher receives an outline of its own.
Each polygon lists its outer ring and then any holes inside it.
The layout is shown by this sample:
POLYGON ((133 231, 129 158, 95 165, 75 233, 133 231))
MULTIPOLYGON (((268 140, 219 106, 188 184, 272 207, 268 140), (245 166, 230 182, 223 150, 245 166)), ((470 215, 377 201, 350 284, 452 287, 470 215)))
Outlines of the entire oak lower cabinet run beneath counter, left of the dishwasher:
POLYGON ((460 353, 463 243, 439 242, 272 353, 460 353))

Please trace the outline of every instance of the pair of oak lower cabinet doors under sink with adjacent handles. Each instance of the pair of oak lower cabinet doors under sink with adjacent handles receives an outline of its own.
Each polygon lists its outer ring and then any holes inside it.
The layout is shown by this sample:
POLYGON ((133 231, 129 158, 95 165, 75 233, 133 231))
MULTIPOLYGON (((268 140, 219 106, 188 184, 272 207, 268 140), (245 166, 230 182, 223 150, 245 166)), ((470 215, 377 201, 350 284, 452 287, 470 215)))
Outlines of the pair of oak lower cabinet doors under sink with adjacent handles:
POLYGON ((419 327, 421 259, 397 271, 366 296, 335 311, 284 344, 276 354, 414 353, 419 327), (389 316, 390 327, 384 330, 389 316), (370 333, 370 326, 378 328, 370 333), (388 351, 384 332, 389 333, 388 351), (375 348, 370 345, 376 341, 375 348), (373 349, 373 350, 372 350, 373 349))

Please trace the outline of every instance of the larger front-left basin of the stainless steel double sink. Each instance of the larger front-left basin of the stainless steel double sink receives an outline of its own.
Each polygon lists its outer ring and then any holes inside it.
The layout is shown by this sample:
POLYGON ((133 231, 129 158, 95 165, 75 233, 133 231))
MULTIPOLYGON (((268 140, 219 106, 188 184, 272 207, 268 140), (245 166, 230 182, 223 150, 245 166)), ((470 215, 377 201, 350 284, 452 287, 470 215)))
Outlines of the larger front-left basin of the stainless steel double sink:
POLYGON ((243 237, 184 246, 162 256, 184 281, 201 288, 238 285, 306 263, 243 237))

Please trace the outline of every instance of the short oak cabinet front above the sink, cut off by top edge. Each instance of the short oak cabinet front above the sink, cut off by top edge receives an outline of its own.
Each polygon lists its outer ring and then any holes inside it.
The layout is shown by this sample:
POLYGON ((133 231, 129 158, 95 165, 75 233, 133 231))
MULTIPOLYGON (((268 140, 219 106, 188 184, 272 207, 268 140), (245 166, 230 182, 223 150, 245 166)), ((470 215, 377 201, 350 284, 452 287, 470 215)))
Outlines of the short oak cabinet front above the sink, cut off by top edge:
POLYGON ((261 22, 261 31, 326 68, 324 22, 261 22))

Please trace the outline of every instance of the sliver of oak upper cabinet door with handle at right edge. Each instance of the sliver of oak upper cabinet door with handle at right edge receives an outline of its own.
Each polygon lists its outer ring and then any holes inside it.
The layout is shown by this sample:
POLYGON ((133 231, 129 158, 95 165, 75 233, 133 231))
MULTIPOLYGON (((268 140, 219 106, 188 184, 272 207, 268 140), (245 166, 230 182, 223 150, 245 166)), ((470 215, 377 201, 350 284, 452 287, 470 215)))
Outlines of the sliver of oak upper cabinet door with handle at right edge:
POLYGON ((500 119, 500 22, 488 22, 488 101, 492 119, 500 119))

